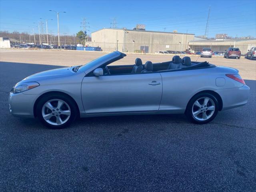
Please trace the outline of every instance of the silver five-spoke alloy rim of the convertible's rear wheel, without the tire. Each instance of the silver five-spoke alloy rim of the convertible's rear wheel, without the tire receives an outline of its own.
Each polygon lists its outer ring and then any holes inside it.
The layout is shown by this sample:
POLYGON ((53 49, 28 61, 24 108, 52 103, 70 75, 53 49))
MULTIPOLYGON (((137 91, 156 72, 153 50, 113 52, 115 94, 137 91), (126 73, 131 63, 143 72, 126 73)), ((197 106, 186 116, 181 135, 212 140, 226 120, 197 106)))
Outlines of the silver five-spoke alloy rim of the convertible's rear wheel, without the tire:
POLYGON ((201 97, 192 106, 192 115, 196 120, 205 121, 215 112, 215 103, 209 97, 201 97))

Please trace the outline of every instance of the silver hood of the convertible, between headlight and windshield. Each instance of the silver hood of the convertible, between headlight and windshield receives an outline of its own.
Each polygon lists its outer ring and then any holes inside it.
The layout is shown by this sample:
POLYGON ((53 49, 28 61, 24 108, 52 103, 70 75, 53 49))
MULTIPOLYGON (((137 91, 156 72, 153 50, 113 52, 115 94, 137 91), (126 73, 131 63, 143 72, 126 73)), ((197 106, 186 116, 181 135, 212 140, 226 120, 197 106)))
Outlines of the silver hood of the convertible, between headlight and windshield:
POLYGON ((74 74, 75 73, 72 71, 72 67, 65 67, 39 72, 24 78, 22 81, 40 81, 51 78, 66 77, 74 74))

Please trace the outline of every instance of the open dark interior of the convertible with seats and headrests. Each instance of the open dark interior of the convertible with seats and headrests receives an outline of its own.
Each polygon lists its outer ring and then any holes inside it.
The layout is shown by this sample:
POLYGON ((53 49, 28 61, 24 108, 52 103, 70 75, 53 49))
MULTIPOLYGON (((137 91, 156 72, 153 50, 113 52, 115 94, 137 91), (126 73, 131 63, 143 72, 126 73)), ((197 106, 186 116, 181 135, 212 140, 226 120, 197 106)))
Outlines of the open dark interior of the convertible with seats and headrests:
POLYGON ((197 68, 206 68, 214 66, 208 62, 191 62, 190 57, 186 56, 180 58, 176 55, 171 61, 152 63, 147 61, 145 64, 142 63, 140 58, 136 58, 134 65, 110 65, 103 68, 104 76, 114 74, 141 74, 150 72, 168 72, 178 70, 189 70, 197 68))

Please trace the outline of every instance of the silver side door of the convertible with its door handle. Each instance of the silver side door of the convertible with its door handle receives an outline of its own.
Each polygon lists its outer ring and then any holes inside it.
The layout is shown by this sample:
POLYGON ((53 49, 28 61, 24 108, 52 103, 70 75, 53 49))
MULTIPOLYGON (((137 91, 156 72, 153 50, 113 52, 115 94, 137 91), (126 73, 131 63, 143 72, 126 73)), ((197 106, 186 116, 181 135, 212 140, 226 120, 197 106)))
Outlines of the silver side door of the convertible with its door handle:
POLYGON ((159 73, 84 77, 81 95, 87 114, 157 111, 162 78, 159 73))

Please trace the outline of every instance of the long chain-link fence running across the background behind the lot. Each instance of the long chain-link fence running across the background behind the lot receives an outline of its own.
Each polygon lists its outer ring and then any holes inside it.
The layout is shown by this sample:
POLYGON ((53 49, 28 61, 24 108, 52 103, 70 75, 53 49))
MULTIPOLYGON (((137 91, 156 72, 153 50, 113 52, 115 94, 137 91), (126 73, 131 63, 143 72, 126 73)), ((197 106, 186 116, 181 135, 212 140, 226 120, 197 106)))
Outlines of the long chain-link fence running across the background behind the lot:
MULTIPOLYGON (((223 43, 223 42, 221 42, 223 43)), ((49 43, 50 44, 50 43, 49 43)), ((201 52, 203 48, 211 48, 213 52, 224 52, 229 47, 239 48, 242 54, 245 54, 247 50, 251 47, 256 46, 255 44, 234 44, 234 42, 228 44, 220 44, 216 45, 211 44, 209 42, 208 45, 200 45, 195 42, 188 42, 188 44, 142 44, 142 43, 119 43, 117 42, 60 42, 60 46, 58 46, 58 42, 53 42, 53 44, 48 45, 47 42, 39 42, 39 41, 23 41, 20 43, 11 42, 11 47, 14 48, 41 48, 41 49, 65 49, 65 50, 77 50, 77 46, 83 46, 84 49, 79 50, 97 50, 103 52, 112 52, 112 51, 121 51, 125 53, 145 53, 145 54, 164 54, 162 52, 168 51, 173 54, 181 54, 184 52, 195 54, 196 52, 201 52), (91 49, 91 48, 96 49, 91 49)))

